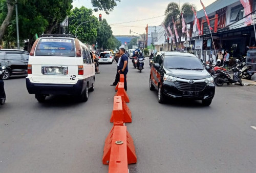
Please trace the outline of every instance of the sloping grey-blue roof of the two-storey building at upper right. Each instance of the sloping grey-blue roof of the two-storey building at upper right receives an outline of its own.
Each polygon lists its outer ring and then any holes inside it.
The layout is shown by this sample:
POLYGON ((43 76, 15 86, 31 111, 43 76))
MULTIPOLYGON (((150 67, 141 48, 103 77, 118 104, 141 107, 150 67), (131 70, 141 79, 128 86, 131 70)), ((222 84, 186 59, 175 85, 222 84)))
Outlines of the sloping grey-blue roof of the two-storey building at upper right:
MULTIPOLYGON (((236 2, 240 2, 240 0, 217 0, 216 2, 208 5, 207 7, 205 7, 205 11, 207 13, 207 15, 209 16, 210 13, 214 13, 216 12, 217 10, 219 9, 222 9, 224 7, 227 7, 233 3, 236 3, 236 2)), ((199 11, 197 11, 197 18, 201 18, 201 17, 204 17, 205 14, 204 14, 204 10, 201 9, 199 11)), ((189 16, 189 17, 186 17, 186 23, 190 23, 191 21, 193 21, 195 19, 195 16, 192 15, 192 16, 189 16)))

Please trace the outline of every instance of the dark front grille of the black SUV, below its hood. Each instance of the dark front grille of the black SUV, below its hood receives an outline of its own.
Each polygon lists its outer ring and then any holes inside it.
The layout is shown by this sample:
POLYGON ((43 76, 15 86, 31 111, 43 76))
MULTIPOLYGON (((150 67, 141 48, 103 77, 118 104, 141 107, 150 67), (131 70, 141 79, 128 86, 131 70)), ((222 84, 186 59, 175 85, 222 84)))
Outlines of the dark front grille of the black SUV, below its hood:
POLYGON ((205 82, 196 82, 190 84, 188 82, 176 81, 174 82, 176 87, 181 91, 203 91, 206 87, 205 82))

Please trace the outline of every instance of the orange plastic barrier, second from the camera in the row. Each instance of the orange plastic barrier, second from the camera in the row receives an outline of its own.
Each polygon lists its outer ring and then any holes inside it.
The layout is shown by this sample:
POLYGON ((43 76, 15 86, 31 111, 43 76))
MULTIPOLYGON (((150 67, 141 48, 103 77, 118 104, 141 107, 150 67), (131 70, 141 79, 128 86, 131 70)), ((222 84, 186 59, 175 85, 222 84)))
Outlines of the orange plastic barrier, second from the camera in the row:
POLYGON ((114 122, 114 125, 121 124, 121 122, 132 122, 132 112, 125 101, 122 101, 121 96, 114 97, 110 122, 114 122))

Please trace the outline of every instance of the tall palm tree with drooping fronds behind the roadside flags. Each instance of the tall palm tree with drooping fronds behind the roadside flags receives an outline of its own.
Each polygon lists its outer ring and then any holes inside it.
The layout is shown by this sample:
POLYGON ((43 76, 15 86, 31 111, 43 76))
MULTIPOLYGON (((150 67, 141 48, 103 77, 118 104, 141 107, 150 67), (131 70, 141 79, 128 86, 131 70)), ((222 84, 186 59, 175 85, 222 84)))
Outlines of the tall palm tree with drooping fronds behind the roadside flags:
MULTIPOLYGON (((192 7, 194 7, 194 9, 196 10, 196 6, 194 4, 189 4, 189 3, 184 3, 181 8, 177 3, 169 3, 164 15, 164 25, 168 26, 170 24, 170 26, 173 26, 173 18, 174 21, 177 21, 177 29, 178 29, 178 33, 179 35, 181 35, 181 30, 179 28, 182 28, 181 26, 181 13, 183 13, 183 17, 186 18, 187 16, 191 16, 193 15, 193 11, 191 10, 192 7)), ((171 27, 172 28, 172 27, 171 27)))

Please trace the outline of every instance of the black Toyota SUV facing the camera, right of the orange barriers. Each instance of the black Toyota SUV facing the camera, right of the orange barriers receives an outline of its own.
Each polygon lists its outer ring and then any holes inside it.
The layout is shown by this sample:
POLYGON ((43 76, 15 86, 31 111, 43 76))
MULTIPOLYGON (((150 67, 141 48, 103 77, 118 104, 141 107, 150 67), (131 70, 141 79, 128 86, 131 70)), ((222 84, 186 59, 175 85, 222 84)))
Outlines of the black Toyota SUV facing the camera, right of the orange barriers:
POLYGON ((215 95, 214 78, 200 59, 190 53, 158 52, 150 72, 150 90, 158 90, 158 102, 165 98, 202 100, 210 105, 215 95))

